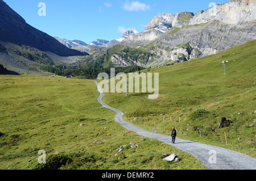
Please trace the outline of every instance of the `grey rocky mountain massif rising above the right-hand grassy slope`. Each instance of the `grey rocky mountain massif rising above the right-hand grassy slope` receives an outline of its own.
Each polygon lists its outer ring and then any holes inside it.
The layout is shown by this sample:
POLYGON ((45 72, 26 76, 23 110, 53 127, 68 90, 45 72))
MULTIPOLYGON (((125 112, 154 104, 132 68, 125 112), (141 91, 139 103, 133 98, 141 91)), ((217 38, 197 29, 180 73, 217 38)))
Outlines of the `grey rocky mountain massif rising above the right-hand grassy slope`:
MULTIPOLYGON (((145 31, 129 36, 122 45, 155 53, 147 66, 176 64, 256 39, 256 0, 230 1, 206 11, 162 13, 145 31)), ((117 61, 117 60, 115 60, 117 61)))

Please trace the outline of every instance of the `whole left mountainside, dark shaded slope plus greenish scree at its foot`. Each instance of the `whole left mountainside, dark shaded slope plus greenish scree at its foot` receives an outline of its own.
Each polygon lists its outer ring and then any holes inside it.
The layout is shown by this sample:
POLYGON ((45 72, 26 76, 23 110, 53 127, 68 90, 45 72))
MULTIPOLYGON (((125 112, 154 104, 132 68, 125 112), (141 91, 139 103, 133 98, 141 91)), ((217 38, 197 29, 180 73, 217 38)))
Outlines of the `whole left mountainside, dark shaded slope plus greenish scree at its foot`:
POLYGON ((40 71, 42 65, 66 64, 88 55, 30 26, 0 0, 0 63, 6 68, 40 71))

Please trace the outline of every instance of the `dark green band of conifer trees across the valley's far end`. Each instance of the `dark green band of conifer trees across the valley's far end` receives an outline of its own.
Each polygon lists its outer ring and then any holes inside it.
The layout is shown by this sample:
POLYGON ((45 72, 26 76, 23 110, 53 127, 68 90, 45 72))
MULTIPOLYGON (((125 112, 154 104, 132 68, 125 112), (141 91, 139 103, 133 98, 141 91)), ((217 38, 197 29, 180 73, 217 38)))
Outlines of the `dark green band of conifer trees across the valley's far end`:
MULTIPOLYGON (((96 79, 98 74, 100 73, 107 73, 110 76, 110 68, 81 68, 81 69, 60 69, 53 66, 41 66, 40 68, 43 71, 47 71, 50 73, 54 73, 55 75, 60 75, 64 77, 68 76, 80 76, 87 79, 96 79)), ((118 73, 131 73, 143 70, 142 66, 133 65, 127 67, 117 67, 115 68, 115 75, 118 73)))

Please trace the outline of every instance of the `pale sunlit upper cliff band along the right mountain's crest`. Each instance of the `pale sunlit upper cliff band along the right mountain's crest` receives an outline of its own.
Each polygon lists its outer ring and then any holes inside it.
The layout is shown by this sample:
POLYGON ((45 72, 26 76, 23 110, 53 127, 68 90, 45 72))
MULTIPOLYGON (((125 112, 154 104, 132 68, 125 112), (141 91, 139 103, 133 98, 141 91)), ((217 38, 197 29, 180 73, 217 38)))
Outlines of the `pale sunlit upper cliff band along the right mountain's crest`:
POLYGON ((195 24, 207 23, 212 20, 219 20, 224 24, 237 24, 255 20, 255 0, 230 1, 221 5, 213 6, 206 11, 179 12, 177 14, 160 13, 147 23, 144 32, 139 35, 130 36, 127 40, 150 40, 152 31, 156 30, 155 39, 172 27, 192 26, 195 24), (142 38, 143 36, 143 38, 142 38), (149 38, 148 38, 149 37, 149 38))

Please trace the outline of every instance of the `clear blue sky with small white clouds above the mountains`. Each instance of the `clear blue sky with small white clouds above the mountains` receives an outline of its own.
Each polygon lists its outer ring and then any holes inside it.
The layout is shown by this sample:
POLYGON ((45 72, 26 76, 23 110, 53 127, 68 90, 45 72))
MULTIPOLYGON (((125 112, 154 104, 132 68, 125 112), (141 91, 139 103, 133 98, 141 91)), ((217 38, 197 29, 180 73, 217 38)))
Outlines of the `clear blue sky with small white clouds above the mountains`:
POLYGON ((142 32, 160 12, 207 10, 210 3, 228 0, 3 0, 28 24, 62 39, 90 43, 97 39, 118 39, 127 28, 142 32), (46 16, 39 16, 39 3, 46 5, 46 16))

